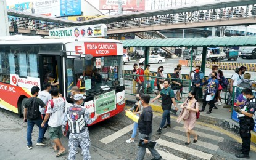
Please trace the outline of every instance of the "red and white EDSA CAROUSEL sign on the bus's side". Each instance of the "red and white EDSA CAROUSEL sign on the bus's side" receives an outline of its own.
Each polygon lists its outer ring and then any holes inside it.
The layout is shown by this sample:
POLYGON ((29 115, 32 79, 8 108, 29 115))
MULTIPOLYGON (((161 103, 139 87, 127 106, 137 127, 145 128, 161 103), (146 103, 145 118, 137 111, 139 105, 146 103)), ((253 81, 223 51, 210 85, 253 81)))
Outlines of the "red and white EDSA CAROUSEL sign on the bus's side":
POLYGON ((31 89, 33 86, 40 87, 40 78, 21 78, 17 74, 10 74, 10 84, 31 89))

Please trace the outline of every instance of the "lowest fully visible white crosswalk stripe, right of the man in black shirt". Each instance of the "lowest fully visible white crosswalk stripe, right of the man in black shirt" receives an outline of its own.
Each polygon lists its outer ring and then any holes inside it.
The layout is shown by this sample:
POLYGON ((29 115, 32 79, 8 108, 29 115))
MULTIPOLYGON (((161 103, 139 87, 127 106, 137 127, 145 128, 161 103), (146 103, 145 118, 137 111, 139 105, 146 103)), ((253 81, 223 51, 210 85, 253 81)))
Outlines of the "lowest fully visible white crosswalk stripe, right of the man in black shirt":
POLYGON ((202 151, 198 151, 198 150, 194 150, 192 148, 189 148, 187 146, 182 146, 182 145, 178 145, 176 143, 168 142, 167 140, 158 139, 158 140, 156 140, 156 142, 159 145, 167 146, 168 148, 172 148, 174 150, 181 151, 183 153, 191 154, 193 156, 197 156, 197 157, 202 158, 202 159, 209 159, 210 160, 212 158, 212 154, 204 153, 202 151))

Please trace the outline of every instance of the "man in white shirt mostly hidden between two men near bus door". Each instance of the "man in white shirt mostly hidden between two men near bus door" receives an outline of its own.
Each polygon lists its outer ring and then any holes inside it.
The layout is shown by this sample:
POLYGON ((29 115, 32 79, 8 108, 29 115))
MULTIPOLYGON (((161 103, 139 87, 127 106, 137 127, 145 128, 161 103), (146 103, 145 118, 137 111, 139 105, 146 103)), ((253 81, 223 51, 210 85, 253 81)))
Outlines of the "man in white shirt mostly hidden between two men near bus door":
MULTIPOLYGON (((44 90, 42 92, 39 92, 38 98, 40 98, 44 102, 44 104, 47 104, 49 100, 52 99, 52 96, 49 93, 49 90, 51 89, 51 83, 44 82, 43 87, 44 87, 44 90)), ((39 106, 39 110, 44 119, 46 114, 45 113, 46 108, 44 108, 44 106, 39 106)), ((46 133, 47 128, 48 128, 48 121, 46 121, 46 123, 44 124, 44 128, 43 128, 44 134, 46 133)), ((46 140, 46 137, 44 137, 44 134, 43 134, 43 140, 46 140)))

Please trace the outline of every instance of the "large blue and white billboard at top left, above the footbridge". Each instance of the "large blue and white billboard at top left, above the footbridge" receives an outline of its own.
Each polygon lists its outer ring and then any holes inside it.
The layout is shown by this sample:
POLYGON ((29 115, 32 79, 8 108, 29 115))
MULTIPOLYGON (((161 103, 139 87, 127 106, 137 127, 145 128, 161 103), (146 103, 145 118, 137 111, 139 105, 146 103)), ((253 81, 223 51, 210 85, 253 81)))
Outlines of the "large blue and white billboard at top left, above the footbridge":
POLYGON ((81 0, 38 0, 7 6, 7 9, 51 17, 81 15, 81 0))

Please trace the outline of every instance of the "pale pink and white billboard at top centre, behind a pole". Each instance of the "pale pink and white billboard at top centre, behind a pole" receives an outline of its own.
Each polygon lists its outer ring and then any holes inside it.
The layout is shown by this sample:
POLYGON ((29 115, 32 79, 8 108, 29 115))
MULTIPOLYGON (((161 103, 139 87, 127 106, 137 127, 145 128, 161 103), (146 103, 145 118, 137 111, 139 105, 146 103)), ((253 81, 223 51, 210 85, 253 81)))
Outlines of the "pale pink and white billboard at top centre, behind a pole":
MULTIPOLYGON (((122 0, 123 10, 144 11, 146 0, 122 0)), ((118 0, 99 0, 99 9, 118 10, 118 0)))

